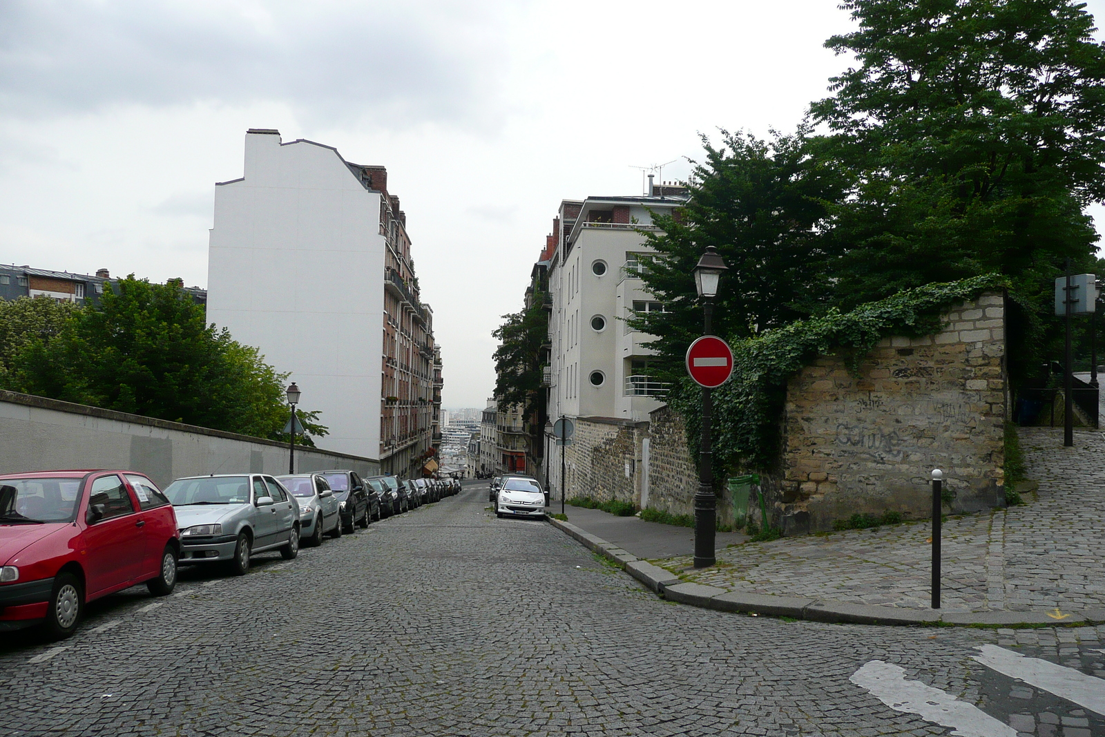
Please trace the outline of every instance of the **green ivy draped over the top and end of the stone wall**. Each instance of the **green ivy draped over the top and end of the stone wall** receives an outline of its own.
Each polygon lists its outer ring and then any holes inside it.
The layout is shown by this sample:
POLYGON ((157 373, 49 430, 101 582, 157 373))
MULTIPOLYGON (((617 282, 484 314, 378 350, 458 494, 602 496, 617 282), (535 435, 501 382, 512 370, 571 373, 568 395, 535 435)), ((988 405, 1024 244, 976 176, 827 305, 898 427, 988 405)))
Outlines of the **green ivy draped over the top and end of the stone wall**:
MULTIPOLYGON (((985 274, 958 282, 926 284, 860 305, 832 309, 760 335, 730 341, 733 377, 714 390, 713 454, 716 477, 723 470, 770 471, 778 465, 787 380, 818 356, 845 355, 857 371, 864 356, 887 336, 919 337, 940 329, 949 305, 1003 289, 1007 277, 985 274)), ((702 430, 702 389, 688 377, 672 387, 667 403, 686 424, 687 448, 697 462, 702 430)))

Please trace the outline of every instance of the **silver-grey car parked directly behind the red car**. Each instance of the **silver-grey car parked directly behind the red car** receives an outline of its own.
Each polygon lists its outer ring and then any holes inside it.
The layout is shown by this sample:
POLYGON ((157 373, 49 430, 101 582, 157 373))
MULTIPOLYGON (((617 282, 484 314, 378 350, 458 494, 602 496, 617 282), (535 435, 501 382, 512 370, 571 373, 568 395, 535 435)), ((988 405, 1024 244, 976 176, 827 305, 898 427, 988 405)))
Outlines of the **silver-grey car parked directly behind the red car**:
POLYGON ((165 489, 180 528, 180 565, 229 562, 238 576, 253 554, 299 554, 295 499, 272 476, 225 474, 178 478, 165 489))

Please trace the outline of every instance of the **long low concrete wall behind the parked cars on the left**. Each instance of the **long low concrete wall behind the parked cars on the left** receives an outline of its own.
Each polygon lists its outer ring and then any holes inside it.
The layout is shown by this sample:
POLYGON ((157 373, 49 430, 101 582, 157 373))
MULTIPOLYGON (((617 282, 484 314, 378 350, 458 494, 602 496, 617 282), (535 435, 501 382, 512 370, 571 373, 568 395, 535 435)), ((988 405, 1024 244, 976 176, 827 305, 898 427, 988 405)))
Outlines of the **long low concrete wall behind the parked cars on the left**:
MULTIPOLYGON (((287 461, 287 445, 270 440, 0 391, 0 473, 126 468, 165 486, 209 473, 284 474, 287 461)), ((296 472, 323 468, 369 476, 380 462, 296 446, 296 472)))

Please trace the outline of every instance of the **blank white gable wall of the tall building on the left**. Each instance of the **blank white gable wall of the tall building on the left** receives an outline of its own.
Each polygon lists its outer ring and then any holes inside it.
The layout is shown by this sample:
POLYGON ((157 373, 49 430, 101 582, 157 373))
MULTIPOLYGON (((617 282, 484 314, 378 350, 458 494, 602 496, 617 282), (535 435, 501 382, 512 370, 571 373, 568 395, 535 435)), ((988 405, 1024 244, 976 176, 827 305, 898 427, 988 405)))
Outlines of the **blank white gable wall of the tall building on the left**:
POLYGON ((381 196, 334 149, 273 134, 246 134, 244 171, 215 187, 208 322, 292 372, 320 448, 378 457, 381 196))

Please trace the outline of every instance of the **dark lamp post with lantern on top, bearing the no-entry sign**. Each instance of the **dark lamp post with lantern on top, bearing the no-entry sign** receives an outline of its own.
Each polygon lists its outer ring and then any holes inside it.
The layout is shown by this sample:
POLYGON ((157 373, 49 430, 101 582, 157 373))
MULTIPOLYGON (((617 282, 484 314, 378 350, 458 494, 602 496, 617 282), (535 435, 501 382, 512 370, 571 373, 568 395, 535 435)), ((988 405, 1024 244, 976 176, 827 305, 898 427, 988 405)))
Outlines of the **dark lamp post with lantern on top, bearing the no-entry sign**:
MULTIPOLYGON (((706 246, 698 264, 694 269, 694 283, 702 299, 703 333, 709 335, 713 329, 714 297, 717 295, 717 283, 722 273, 728 270, 717 249, 706 246)), ((714 466, 711 451, 711 412, 713 398, 708 387, 702 388, 702 451, 698 461, 698 493, 694 495, 694 567, 713 566, 714 531, 716 527, 717 497, 714 495, 714 466)))

